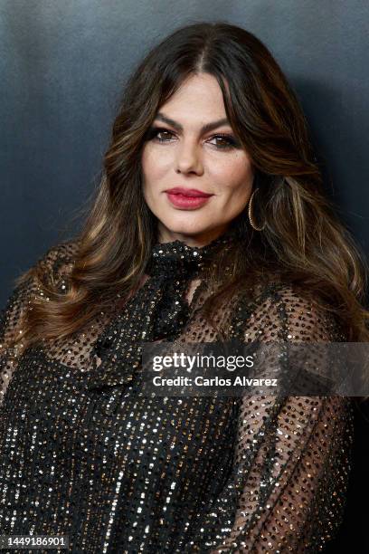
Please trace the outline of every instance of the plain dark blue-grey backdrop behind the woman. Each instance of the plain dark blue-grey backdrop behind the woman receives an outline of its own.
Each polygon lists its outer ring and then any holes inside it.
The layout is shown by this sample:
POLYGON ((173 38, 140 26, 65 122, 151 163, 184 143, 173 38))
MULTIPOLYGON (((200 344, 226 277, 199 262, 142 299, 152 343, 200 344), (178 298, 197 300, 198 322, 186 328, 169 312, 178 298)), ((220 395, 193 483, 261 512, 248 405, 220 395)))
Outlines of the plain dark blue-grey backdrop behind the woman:
MULTIPOLYGON (((132 65, 201 20, 240 24, 270 48, 307 114, 327 192, 368 253, 366 0, 0 0, 0 305, 15 276, 79 228, 69 222, 99 181, 132 65)), ((350 507, 367 495, 356 481, 350 507)), ((353 521, 339 543, 351 535, 351 551, 353 521)))

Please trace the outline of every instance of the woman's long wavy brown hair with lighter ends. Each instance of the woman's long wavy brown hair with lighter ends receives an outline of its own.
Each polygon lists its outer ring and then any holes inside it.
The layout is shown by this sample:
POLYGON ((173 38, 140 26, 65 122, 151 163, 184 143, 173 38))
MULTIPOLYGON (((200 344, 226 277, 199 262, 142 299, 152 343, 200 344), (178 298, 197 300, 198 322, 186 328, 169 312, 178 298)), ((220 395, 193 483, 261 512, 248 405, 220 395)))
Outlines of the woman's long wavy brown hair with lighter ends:
POLYGON ((267 47, 252 33, 228 23, 190 24, 158 43, 126 82, 104 157, 102 177, 84 227, 67 293, 47 275, 48 301, 34 301, 24 325, 24 347, 38 339, 81 330, 117 293, 128 296, 144 275, 156 241, 156 218, 142 192, 141 153, 156 112, 188 77, 210 73, 222 89, 233 132, 251 156, 258 193, 254 208, 260 231, 247 210, 233 224, 247 240, 218 260, 211 278, 222 286, 206 301, 212 322, 220 303, 276 272, 319 305, 336 314, 348 341, 369 341, 364 308, 364 254, 328 201, 295 92, 267 47), (224 267, 232 267, 222 281, 224 267))

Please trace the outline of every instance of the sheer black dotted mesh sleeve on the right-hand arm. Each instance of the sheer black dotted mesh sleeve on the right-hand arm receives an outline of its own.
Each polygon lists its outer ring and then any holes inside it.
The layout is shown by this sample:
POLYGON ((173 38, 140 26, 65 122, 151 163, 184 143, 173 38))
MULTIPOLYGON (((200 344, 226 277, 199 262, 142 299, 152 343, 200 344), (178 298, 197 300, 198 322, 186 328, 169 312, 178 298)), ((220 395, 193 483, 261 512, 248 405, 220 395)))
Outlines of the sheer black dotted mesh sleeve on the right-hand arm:
MULTIPOLYGON (((336 341, 336 329, 285 287, 255 303, 244 339, 336 341)), ((321 551, 342 521, 352 437, 347 397, 243 396, 232 474, 188 551, 321 551)))

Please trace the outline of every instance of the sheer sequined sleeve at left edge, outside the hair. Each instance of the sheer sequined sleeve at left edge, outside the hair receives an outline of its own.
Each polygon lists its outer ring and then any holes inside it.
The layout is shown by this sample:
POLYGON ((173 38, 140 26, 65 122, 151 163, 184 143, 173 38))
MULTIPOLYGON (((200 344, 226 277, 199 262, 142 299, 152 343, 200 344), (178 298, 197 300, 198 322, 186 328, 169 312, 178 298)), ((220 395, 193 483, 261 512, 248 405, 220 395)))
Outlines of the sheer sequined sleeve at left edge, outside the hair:
POLYGON ((24 273, 22 281, 14 287, 5 308, 0 312, 0 406, 22 352, 26 311, 29 310, 36 296, 44 297, 37 275, 42 272, 51 282, 61 280, 62 271, 66 264, 70 263, 71 253, 75 249, 74 243, 63 243, 52 247, 28 272, 24 273))

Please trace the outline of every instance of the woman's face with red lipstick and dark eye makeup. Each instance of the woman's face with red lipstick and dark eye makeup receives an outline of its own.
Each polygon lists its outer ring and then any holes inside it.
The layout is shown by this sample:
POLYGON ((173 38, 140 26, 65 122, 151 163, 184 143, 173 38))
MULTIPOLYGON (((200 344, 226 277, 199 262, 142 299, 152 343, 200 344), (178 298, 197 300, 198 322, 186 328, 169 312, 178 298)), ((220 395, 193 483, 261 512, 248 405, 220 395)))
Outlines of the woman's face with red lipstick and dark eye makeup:
POLYGON ((208 244, 247 205, 254 177, 251 158, 232 132, 213 75, 191 76, 161 107, 143 148, 142 173, 162 243, 208 244), (175 187, 185 195, 167 192, 175 187))

